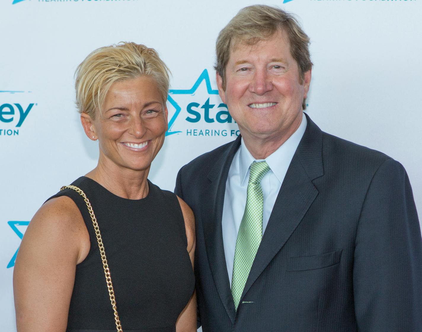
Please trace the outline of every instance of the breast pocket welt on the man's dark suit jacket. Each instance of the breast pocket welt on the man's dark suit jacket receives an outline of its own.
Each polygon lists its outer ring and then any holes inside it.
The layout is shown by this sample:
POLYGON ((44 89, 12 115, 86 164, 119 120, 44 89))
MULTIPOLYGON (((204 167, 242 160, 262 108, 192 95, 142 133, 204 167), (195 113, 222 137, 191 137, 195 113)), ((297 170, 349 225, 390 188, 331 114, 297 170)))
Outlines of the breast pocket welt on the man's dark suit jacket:
POLYGON ((340 263, 343 249, 313 256, 290 257, 286 271, 305 271, 322 269, 340 263))

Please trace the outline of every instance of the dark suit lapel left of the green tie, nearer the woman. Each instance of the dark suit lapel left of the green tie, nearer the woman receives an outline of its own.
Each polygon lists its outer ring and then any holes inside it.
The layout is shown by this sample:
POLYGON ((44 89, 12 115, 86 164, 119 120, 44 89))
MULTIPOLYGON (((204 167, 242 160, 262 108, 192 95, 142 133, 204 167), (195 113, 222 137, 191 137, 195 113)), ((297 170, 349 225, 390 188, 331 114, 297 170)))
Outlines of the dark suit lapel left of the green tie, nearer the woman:
POLYGON ((235 306, 230 291, 230 281, 224 254, 222 214, 227 176, 240 142, 241 137, 239 136, 228 146, 210 173, 208 173, 210 183, 208 188, 204 190, 206 194, 204 194, 202 202, 202 223, 208 262, 219 297, 233 324, 235 306))

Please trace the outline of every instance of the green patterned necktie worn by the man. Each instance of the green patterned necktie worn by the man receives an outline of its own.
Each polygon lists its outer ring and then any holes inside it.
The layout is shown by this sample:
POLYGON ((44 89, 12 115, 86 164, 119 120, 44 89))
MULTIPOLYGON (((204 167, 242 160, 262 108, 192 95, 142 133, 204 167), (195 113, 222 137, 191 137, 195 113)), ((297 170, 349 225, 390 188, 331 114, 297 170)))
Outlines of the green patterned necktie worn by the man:
POLYGON ((264 195, 261 180, 269 170, 267 162, 252 162, 250 167, 246 207, 239 227, 233 262, 232 295, 236 310, 262 239, 264 195))

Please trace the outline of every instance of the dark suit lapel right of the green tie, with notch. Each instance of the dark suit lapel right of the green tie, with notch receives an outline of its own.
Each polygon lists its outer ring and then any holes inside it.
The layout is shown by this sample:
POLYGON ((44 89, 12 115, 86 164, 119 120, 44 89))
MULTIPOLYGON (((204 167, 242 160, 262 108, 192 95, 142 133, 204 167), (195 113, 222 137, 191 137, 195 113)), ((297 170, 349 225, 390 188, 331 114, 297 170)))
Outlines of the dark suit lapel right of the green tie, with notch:
POLYGON ((306 131, 289 165, 267 228, 243 289, 243 296, 298 227, 318 194, 312 180, 324 174, 322 132, 309 119, 306 131))

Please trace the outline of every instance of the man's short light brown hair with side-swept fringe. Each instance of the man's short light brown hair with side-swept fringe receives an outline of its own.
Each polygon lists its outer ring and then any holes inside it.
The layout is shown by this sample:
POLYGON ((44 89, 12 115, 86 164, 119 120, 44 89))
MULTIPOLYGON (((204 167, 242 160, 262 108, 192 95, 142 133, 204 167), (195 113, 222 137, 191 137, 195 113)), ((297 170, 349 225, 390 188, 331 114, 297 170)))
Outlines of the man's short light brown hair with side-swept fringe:
MULTIPOLYGON (((268 40, 278 30, 287 35, 290 54, 299 65, 300 81, 303 83, 305 73, 312 68, 308 35, 291 13, 268 5, 252 5, 242 8, 218 35, 214 68, 222 78, 223 89, 226 88, 225 74, 230 53, 241 43, 255 45, 260 40, 268 40)), ((306 108, 305 100, 302 108, 306 108)))

